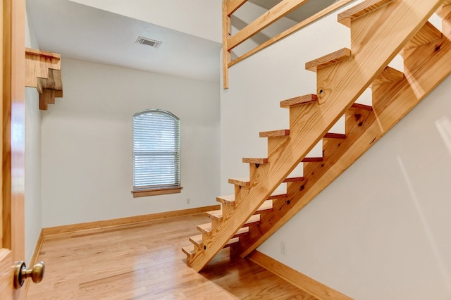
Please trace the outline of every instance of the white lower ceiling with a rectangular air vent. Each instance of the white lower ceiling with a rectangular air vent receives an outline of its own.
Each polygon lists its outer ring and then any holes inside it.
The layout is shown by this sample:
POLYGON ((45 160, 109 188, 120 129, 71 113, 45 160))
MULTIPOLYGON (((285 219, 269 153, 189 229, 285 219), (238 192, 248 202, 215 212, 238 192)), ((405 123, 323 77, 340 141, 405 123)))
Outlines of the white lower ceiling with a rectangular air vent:
POLYGON ((27 0, 39 48, 125 68, 219 82, 221 44, 68 0, 27 0), (135 44, 156 39, 158 49, 135 44))

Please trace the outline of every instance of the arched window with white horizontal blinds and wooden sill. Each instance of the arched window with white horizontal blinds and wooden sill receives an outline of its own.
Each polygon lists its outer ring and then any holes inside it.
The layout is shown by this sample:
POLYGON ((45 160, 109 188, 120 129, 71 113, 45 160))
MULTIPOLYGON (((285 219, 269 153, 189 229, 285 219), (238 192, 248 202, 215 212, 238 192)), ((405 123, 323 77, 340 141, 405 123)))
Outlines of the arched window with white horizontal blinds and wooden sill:
POLYGON ((180 120, 161 109, 133 115, 133 196, 180 192, 180 120))

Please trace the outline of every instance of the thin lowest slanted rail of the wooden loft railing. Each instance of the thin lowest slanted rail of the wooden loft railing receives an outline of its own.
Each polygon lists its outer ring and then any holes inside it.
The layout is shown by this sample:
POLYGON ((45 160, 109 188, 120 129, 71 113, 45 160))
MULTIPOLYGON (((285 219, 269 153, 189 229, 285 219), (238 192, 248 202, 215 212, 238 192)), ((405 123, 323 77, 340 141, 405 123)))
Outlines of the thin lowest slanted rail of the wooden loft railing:
POLYGON ((354 0, 338 0, 335 1, 335 3, 333 3, 332 5, 324 8, 322 11, 320 11, 319 13, 316 13, 314 15, 311 15, 311 17, 302 20, 301 22, 297 23, 295 26, 289 28, 288 30, 285 30, 284 32, 276 35, 275 37, 268 39, 268 41, 264 42, 263 44, 255 47, 254 49, 252 49, 251 51, 247 52, 246 54, 243 54, 242 56, 234 59, 233 61, 231 61, 228 64, 228 67, 230 68, 232 65, 235 65, 235 63, 239 63, 240 61, 245 60, 245 58, 248 58, 249 56, 252 56, 253 54, 256 54, 257 52, 265 49, 267 46, 270 46, 271 44, 278 42, 280 39, 283 39, 285 37, 288 37, 289 35, 291 35, 294 32, 297 32, 297 30, 301 30, 302 28, 306 27, 307 25, 314 23, 316 20, 319 20, 321 18, 323 18, 324 16, 333 13, 334 11, 336 11, 338 8, 341 8, 342 6, 345 6, 346 4, 350 3, 351 1, 354 0))

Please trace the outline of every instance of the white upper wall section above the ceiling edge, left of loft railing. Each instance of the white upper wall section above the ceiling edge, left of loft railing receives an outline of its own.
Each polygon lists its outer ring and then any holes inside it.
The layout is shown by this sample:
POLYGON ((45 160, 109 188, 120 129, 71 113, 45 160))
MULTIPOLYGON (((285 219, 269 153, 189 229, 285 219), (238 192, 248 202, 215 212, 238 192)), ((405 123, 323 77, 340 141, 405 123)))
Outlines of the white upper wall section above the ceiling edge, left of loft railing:
POLYGON ((222 42, 221 0, 70 0, 222 42))

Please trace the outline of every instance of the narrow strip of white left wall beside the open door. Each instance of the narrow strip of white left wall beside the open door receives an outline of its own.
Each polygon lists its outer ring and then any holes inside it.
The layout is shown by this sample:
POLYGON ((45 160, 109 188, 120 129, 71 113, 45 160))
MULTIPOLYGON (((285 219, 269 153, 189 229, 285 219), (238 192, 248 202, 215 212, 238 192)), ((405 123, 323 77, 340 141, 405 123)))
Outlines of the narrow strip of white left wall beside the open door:
MULTIPOLYGON (((32 23, 27 18, 25 46, 39 49, 32 23)), ((37 89, 25 88, 25 261, 30 263, 42 230, 41 112, 37 89)))

